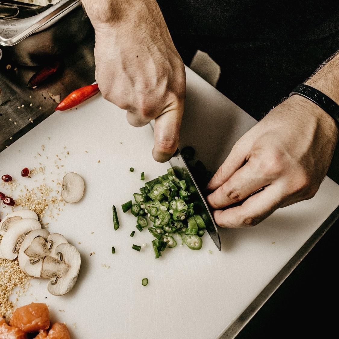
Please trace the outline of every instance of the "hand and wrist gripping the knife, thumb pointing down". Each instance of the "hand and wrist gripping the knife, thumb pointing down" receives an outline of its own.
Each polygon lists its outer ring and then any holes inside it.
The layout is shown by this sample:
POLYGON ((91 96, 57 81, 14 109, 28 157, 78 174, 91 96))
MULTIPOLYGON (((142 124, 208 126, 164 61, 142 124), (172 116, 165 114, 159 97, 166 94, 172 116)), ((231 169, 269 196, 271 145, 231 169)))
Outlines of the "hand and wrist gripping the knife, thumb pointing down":
POLYGON ((153 157, 176 151, 186 92, 184 64, 155 0, 83 0, 95 29, 95 77, 133 126, 155 119, 153 157))

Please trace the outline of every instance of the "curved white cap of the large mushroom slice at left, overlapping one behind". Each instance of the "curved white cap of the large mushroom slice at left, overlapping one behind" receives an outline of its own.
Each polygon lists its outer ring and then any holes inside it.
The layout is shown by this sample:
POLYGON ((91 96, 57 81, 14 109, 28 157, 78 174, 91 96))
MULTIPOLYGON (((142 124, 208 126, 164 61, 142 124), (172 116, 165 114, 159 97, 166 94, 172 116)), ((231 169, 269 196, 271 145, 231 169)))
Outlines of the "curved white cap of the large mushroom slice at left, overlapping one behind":
POLYGON ((0 243, 1 253, 5 259, 14 260, 18 256, 18 252, 13 252, 20 238, 25 234, 41 228, 40 222, 33 218, 25 218, 18 220, 3 235, 0 243))

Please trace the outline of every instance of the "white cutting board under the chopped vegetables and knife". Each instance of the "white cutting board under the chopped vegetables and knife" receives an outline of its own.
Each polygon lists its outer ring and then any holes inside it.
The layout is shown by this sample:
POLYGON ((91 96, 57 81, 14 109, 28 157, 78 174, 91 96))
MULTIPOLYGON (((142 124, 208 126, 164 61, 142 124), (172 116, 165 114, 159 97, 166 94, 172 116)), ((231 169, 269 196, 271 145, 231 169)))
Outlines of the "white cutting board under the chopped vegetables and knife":
MULTIPOLYGON (((194 146, 197 159, 215 172, 255 120, 190 69, 186 72, 181 146, 194 146)), ((221 252, 205 234, 200 251, 177 246, 155 259, 151 234, 137 231, 135 218, 120 208, 143 186, 141 172, 150 180, 170 167, 152 159, 152 147, 148 125, 128 125, 125 112, 98 95, 78 109, 54 113, 0 153, 0 173, 16 174, 28 187, 42 183, 43 177, 52 185, 63 171, 79 173, 86 184, 79 203, 67 204, 57 221, 44 219, 50 232, 62 233, 79 249, 77 284, 55 297, 46 291, 45 280, 34 279, 18 305, 46 302, 52 318, 65 321, 75 339, 217 338, 338 205, 339 185, 325 178, 313 199, 282 208, 256 227, 219 230, 221 252), (62 154, 58 162, 64 167, 58 171, 56 154, 66 151, 69 156, 62 154), (42 156, 35 159, 38 152, 42 156), (38 182, 20 177, 21 168, 39 162, 46 165, 46 174, 35 176, 38 182), (113 228, 113 204, 118 207, 118 231, 113 228), (132 250, 132 244, 142 243, 147 247, 141 252, 132 250), (141 280, 146 277, 144 287, 141 280)))

